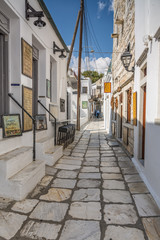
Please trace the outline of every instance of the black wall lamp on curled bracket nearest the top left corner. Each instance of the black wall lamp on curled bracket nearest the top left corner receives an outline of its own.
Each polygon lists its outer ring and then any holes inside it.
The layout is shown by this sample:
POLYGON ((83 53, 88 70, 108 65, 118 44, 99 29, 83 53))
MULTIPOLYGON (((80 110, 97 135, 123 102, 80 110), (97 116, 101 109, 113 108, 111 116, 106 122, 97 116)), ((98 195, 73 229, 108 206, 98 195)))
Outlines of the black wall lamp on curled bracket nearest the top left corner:
POLYGON ((41 19, 44 17, 43 11, 36 11, 26 0, 26 19, 29 21, 30 17, 38 17, 36 21, 34 21, 34 25, 42 28, 46 26, 46 23, 41 19))

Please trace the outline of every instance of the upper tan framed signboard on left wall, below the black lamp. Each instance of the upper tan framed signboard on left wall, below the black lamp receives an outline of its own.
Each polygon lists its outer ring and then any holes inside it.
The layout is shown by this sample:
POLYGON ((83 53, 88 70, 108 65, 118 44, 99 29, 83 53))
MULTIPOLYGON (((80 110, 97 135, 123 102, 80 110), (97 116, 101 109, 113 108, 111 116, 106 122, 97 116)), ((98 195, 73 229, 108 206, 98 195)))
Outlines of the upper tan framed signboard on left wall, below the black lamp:
POLYGON ((22 39, 22 73, 32 78, 32 47, 22 39))

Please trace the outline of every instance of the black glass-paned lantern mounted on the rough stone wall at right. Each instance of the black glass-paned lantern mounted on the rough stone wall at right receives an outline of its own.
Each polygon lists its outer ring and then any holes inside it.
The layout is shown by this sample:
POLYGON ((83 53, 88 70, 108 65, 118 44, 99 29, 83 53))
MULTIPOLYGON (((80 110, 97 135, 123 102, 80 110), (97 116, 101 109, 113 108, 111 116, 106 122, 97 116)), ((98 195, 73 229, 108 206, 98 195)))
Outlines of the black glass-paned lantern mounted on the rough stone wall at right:
POLYGON ((132 54, 130 53, 130 43, 129 43, 127 49, 121 55, 122 64, 123 64, 124 68, 126 69, 126 71, 128 71, 128 72, 134 72, 134 67, 132 67, 131 70, 128 69, 129 65, 131 63, 131 59, 132 59, 132 54))

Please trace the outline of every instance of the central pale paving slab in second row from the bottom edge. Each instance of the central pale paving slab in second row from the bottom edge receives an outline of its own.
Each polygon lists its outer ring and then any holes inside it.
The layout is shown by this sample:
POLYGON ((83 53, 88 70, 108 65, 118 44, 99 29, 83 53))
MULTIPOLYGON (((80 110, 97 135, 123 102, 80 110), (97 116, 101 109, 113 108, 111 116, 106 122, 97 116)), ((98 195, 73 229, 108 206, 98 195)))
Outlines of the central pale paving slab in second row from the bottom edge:
POLYGON ((101 220, 100 210, 98 202, 74 202, 70 206, 69 215, 78 219, 101 220))

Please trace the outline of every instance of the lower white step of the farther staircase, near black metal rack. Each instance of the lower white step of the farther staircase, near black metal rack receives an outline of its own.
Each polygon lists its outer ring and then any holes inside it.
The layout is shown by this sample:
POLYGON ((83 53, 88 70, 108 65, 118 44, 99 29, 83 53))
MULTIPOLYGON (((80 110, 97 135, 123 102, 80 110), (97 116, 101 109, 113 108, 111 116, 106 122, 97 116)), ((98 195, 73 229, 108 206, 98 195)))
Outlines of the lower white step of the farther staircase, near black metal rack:
POLYGON ((63 156, 63 146, 54 146, 48 149, 43 156, 46 165, 53 166, 63 156))

